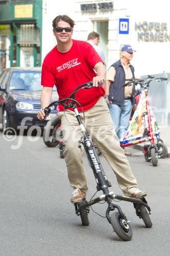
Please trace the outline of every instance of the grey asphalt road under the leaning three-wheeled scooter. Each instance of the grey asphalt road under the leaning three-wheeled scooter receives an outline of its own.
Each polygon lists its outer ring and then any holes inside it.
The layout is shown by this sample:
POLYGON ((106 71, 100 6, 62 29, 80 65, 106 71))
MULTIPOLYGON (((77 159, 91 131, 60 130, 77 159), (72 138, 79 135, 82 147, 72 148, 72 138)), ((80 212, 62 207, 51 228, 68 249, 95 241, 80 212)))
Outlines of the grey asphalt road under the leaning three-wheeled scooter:
MULTIPOLYGON (((128 157, 139 188, 147 190, 152 228, 145 228, 129 202, 119 202, 131 221, 133 238, 120 240, 106 218, 90 210, 89 226, 82 226, 69 202, 65 162, 58 148, 47 148, 42 137, 4 138, 0 133, 0 255, 169 255, 170 159, 157 167, 145 162, 142 152, 130 148, 128 157), (13 140, 12 140, 13 139, 13 140), (32 140, 32 141, 31 141, 32 140)), ((115 176, 101 157, 115 194, 122 195, 115 176)), ((95 180, 85 158, 89 180, 87 198, 95 193, 95 180)), ((99 193, 102 194, 102 193, 99 193)), ((107 205, 93 209, 105 216, 107 205)))

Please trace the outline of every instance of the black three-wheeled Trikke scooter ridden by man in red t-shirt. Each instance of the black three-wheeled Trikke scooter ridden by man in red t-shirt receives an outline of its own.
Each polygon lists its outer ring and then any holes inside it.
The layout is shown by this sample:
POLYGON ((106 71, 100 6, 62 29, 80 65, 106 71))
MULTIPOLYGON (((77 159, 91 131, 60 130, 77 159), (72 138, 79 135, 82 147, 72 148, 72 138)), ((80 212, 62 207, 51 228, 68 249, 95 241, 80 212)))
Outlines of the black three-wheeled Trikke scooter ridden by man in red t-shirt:
POLYGON ((97 184, 96 189, 103 191, 103 194, 97 198, 91 199, 88 202, 86 201, 86 199, 84 199, 82 202, 74 204, 76 209, 76 214, 78 216, 79 215, 81 216, 82 225, 85 225, 85 226, 89 225, 89 221, 88 221, 89 206, 99 203, 100 201, 103 200, 108 203, 108 208, 106 210, 106 217, 108 222, 112 225, 114 231, 116 232, 119 238, 121 238, 124 241, 129 241, 132 238, 132 228, 130 226, 130 221, 127 220, 127 217, 122 211, 122 209, 120 208, 120 206, 115 204, 113 200, 117 199, 117 200, 128 201, 133 203, 136 209, 136 215, 139 218, 143 219, 146 227, 152 226, 152 222, 149 217, 151 209, 144 198, 136 199, 131 197, 120 196, 120 195, 115 195, 113 191, 109 191, 109 187, 111 186, 111 183, 108 181, 105 175, 105 172, 100 162, 100 159, 98 157, 98 154, 96 153, 95 146, 92 143, 92 139, 90 135, 86 133, 80 113, 77 109, 77 101, 74 98, 75 93, 81 88, 88 89, 91 87, 92 87, 92 82, 81 84, 81 86, 79 86, 67 99, 52 102, 50 105, 48 105, 47 108, 45 108, 44 112, 50 113, 51 106, 54 105, 55 103, 63 104, 65 109, 71 108, 74 110, 75 117, 77 118, 77 121, 80 125, 80 129, 82 132, 82 137, 81 137, 81 140, 79 141, 79 147, 81 148, 82 145, 84 146, 87 158, 90 163, 90 167, 92 168, 95 181, 97 184), (71 100, 71 101, 69 101, 66 104, 65 102, 68 100, 71 100), (110 215, 110 211, 114 211, 115 208, 118 211, 115 211, 112 213, 112 215, 110 215), (146 208, 148 209, 149 214, 146 208))

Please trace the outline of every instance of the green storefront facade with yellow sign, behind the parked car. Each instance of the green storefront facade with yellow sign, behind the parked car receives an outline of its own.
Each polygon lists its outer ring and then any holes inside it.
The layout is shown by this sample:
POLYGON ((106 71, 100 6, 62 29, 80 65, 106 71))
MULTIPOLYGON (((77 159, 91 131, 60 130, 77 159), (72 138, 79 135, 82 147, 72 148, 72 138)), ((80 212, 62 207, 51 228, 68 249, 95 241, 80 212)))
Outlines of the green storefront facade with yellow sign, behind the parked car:
POLYGON ((0 71, 41 66, 42 1, 0 1, 0 71))

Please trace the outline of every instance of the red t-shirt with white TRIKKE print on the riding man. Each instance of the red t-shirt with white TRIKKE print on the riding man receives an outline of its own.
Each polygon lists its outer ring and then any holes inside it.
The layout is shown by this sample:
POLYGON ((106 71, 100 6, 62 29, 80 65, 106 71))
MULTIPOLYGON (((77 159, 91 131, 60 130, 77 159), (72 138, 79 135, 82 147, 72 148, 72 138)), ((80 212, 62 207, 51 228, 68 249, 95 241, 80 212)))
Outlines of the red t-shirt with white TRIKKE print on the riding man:
MULTIPOLYGON (((42 64, 41 84, 44 87, 57 87, 59 99, 67 98, 80 84, 92 80, 96 76, 94 66, 103 62, 93 47, 85 41, 72 40, 72 47, 61 53, 55 46, 44 58, 42 64)), ((86 111, 105 93, 102 86, 82 89, 76 93, 76 100, 86 111)), ((82 109, 77 104, 78 110, 82 109)), ((60 111, 63 106, 60 105, 60 111)))

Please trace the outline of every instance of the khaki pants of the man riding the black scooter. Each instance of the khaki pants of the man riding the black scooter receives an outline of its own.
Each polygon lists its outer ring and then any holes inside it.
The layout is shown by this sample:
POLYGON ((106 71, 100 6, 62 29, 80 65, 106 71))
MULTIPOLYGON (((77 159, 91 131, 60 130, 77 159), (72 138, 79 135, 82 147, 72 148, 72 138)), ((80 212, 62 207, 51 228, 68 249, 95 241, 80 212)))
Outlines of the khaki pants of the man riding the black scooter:
MULTIPOLYGON (((93 108, 84 112, 84 115, 85 119, 81 113, 86 131, 91 135, 111 166, 120 189, 126 196, 131 196, 134 190, 138 188, 137 182, 124 150, 120 147, 105 99, 101 97, 93 108)), ((75 113, 69 110, 66 110, 65 114, 61 112, 60 116, 63 139, 66 144, 64 156, 70 185, 74 189, 80 188, 87 193, 87 177, 83 166, 82 150, 78 147, 81 138, 78 121, 75 113)))

